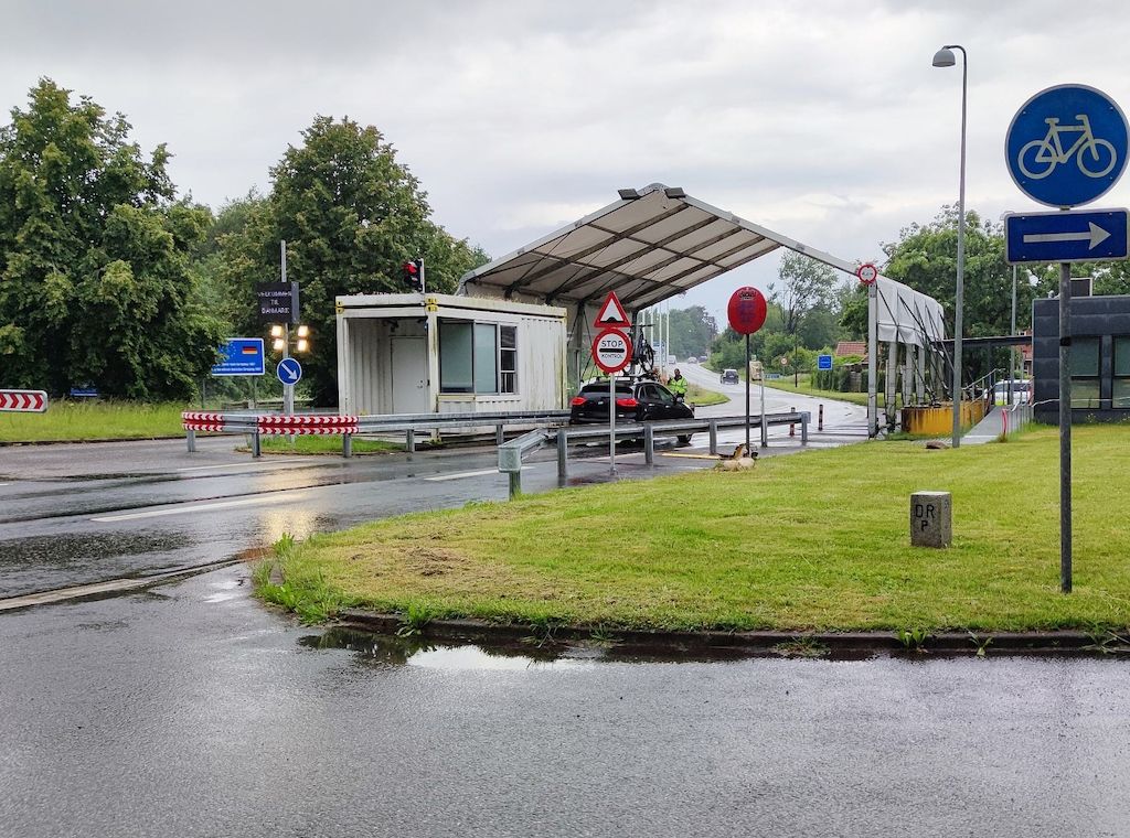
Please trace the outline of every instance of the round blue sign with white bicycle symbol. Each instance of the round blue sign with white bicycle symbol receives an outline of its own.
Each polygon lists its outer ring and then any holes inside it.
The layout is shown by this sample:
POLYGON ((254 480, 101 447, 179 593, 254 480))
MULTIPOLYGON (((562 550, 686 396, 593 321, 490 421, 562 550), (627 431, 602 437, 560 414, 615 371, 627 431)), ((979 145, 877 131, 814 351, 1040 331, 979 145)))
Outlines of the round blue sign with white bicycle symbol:
POLYGON ((1025 102, 1008 126, 1008 171, 1040 203, 1088 203, 1122 175, 1128 134, 1122 108, 1106 94, 1086 85, 1049 87, 1025 102))

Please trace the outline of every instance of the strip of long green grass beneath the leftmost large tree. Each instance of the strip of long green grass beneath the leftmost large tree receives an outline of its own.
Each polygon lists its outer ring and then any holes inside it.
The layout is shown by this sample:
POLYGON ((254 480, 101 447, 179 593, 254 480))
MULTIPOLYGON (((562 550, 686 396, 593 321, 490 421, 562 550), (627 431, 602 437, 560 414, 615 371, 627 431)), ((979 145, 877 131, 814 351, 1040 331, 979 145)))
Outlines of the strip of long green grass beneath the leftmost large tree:
POLYGON ((0 442, 123 439, 183 435, 185 404, 52 401, 45 413, 0 413, 0 442))

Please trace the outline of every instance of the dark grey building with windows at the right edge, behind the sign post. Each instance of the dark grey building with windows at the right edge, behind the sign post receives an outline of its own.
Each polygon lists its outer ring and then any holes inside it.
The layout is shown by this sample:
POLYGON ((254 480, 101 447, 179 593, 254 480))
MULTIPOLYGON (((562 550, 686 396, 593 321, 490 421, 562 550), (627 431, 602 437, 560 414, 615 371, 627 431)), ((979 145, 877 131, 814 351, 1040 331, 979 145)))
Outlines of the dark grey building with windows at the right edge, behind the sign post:
MULTIPOLYGON (((1032 304, 1036 421, 1059 422, 1059 299, 1032 304)), ((1072 421, 1130 419, 1130 295, 1071 298, 1072 421)))

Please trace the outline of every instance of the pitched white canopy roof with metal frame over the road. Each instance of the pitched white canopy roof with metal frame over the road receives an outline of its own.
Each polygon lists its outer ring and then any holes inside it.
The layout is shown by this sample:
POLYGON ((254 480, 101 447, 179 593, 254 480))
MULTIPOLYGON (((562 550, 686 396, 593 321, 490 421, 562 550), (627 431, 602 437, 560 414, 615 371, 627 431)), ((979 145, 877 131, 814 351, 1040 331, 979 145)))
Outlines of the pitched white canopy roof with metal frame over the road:
POLYGON ((653 183, 466 273, 457 294, 579 307, 616 291, 629 312, 676 297, 779 247, 854 273, 855 265, 653 183))

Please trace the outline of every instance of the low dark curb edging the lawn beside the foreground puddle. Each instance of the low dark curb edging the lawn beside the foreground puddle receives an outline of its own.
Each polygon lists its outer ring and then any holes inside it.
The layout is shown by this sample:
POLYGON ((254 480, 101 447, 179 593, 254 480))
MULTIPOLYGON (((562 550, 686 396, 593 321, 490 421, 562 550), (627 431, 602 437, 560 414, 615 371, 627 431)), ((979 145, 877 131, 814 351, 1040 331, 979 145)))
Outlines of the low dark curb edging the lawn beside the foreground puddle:
MULTIPOLYGON (((338 613, 338 625, 373 631, 395 634, 406 626, 400 614, 377 613, 362 609, 344 609, 338 613)), ((477 619, 432 620, 414 629, 419 637, 463 643, 513 643, 530 636, 546 634, 541 626, 497 623, 477 619)), ((939 631, 929 634, 921 643, 899 639, 895 631, 649 631, 616 629, 603 626, 554 626, 549 632, 555 640, 584 641, 599 636, 601 640, 650 652, 728 649, 758 654, 788 652, 789 647, 825 647, 832 654, 939 652, 945 654, 976 654, 979 649, 1012 654, 1090 654, 1114 651, 1102 638, 1086 631, 939 631)))

